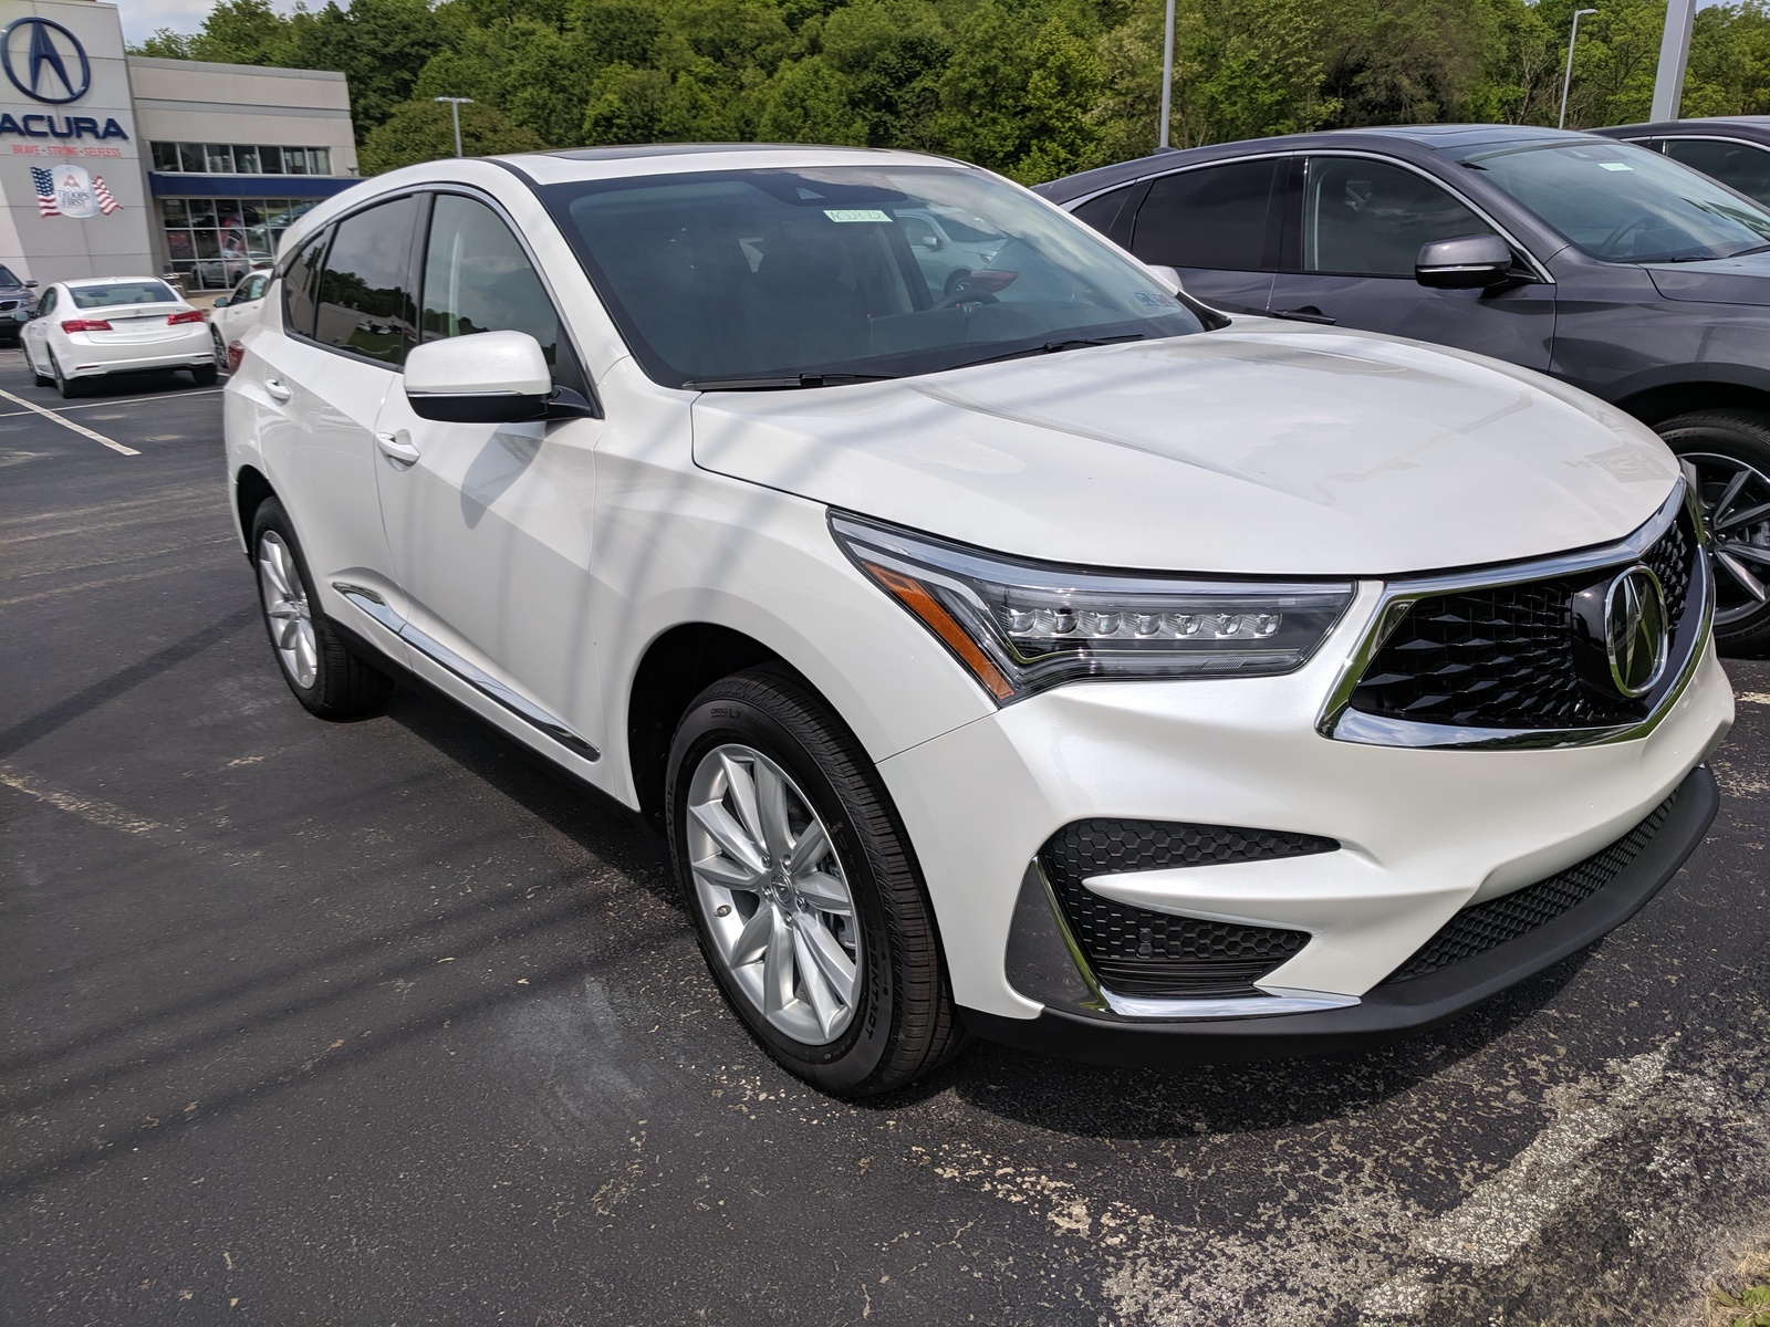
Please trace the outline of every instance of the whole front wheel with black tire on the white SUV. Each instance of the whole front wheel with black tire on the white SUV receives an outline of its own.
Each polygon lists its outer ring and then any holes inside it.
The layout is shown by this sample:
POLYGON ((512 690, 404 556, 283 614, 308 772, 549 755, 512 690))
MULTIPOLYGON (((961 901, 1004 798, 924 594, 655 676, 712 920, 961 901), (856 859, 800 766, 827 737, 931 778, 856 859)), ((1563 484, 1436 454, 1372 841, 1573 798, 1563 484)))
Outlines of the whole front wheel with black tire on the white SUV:
POLYGON ((908 835, 860 743, 804 681, 758 667, 701 692, 671 743, 666 812, 708 968, 788 1072, 874 1097, 965 1046, 908 835), (745 872, 749 886, 733 885, 745 872))

